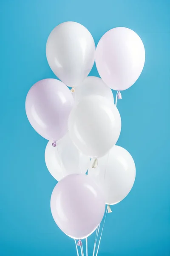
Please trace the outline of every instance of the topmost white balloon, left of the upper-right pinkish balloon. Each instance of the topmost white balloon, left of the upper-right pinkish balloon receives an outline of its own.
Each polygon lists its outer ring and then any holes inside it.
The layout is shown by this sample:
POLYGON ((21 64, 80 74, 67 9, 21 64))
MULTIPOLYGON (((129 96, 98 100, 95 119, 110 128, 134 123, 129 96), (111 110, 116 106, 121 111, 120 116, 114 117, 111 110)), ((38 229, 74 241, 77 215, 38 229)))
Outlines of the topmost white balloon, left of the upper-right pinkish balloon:
POLYGON ((72 21, 56 26, 46 44, 51 70, 70 87, 76 87, 88 76, 94 65, 95 50, 88 29, 72 21))

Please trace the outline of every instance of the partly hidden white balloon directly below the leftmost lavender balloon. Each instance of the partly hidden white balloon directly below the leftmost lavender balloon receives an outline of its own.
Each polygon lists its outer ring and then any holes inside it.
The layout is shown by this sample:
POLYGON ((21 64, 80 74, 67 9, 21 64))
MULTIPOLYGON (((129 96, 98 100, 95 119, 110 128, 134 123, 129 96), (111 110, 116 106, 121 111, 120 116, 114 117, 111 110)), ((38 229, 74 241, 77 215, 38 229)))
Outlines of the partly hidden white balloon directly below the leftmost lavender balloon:
POLYGON ((56 180, 69 174, 85 174, 88 170, 90 157, 83 155, 72 143, 68 133, 52 146, 49 141, 45 148, 45 163, 48 171, 56 180))

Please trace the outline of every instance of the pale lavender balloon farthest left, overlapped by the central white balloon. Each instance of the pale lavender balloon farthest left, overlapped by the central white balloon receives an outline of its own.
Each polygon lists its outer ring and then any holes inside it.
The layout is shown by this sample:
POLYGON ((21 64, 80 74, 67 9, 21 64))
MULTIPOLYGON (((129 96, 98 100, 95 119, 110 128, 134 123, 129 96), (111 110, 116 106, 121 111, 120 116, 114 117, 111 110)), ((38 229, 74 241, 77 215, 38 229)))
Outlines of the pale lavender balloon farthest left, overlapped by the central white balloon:
POLYGON ((68 116, 74 105, 68 87, 57 79, 43 79, 26 96, 26 114, 32 127, 47 140, 57 141, 68 131, 68 116))

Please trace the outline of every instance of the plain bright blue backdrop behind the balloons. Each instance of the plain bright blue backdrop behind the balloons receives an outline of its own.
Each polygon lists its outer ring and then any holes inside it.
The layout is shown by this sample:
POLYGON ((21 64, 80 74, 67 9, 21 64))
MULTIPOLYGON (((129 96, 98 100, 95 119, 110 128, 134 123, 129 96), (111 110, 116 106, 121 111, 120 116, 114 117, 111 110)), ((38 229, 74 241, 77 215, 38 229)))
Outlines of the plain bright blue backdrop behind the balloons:
MULTIPOLYGON (((99 256, 170 255, 169 13, 168 0, 0 0, 0 255, 76 255, 74 240, 51 216, 56 181, 45 166, 47 141, 25 113, 30 87, 55 78, 45 56, 48 35, 69 20, 86 26, 96 44, 107 30, 126 26, 146 50, 142 75, 118 101, 118 145, 135 160, 136 182, 107 216, 99 256)), ((98 76, 96 67, 91 75, 98 76)))

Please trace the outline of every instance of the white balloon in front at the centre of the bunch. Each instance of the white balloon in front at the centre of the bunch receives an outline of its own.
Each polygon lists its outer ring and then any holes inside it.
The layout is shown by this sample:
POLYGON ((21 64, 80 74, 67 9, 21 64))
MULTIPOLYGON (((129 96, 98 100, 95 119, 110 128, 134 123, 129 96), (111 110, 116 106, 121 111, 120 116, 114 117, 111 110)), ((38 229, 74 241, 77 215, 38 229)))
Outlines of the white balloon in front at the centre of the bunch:
POLYGON ((105 97, 83 98, 71 111, 68 132, 71 140, 91 157, 102 157, 115 145, 121 130, 118 109, 105 97))

